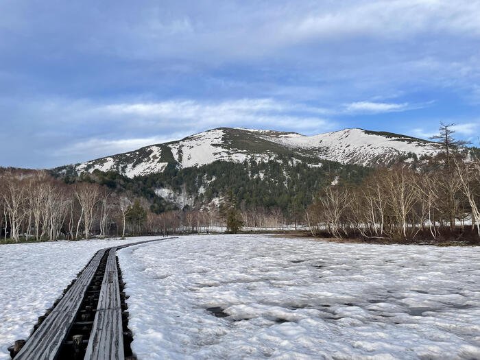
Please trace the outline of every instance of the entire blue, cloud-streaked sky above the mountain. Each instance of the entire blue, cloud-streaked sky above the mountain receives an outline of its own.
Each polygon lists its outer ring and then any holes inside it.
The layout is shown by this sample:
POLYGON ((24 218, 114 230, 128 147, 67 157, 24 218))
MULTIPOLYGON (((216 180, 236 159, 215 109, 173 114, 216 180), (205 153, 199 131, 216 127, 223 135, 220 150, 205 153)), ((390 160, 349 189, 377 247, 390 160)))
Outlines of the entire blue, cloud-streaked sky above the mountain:
POLYGON ((218 127, 479 145, 480 0, 0 1, 0 166, 218 127))

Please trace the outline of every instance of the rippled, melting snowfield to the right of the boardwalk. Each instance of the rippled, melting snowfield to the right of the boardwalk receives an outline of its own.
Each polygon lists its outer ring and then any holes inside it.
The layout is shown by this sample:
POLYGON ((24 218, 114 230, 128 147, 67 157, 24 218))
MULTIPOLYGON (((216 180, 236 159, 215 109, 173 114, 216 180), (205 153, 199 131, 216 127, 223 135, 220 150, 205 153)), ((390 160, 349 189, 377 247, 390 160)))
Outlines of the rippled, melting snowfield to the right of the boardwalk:
POLYGON ((220 235, 119 259, 140 360, 479 359, 479 254, 220 235))

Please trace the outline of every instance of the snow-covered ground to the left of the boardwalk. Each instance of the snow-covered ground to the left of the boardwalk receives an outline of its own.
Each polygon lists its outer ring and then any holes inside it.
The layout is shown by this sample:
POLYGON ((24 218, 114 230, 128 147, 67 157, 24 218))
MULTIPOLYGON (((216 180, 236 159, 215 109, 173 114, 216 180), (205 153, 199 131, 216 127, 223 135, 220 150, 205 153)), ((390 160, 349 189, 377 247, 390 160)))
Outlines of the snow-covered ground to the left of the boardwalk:
POLYGON ((26 339, 97 250, 158 237, 0 245, 0 359, 26 339))

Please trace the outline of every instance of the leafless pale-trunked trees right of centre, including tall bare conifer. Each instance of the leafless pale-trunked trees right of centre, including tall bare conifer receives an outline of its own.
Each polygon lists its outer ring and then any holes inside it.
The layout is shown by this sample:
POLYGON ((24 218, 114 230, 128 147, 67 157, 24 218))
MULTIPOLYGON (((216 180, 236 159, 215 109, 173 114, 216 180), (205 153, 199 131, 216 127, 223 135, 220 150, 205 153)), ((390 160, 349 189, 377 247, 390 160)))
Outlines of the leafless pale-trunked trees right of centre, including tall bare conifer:
POLYGON ((452 126, 442 123, 442 152, 422 171, 376 169, 357 186, 323 187, 304 214, 312 235, 479 241, 480 160, 452 126))

